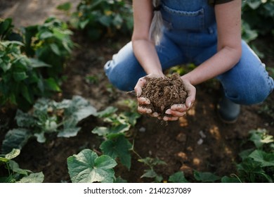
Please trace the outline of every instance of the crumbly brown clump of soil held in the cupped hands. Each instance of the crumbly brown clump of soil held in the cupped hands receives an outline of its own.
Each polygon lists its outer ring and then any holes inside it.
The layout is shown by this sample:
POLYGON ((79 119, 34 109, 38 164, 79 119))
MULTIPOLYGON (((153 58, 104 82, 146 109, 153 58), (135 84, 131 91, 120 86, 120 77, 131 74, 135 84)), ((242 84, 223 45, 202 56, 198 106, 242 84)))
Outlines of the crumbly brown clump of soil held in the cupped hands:
POLYGON ((145 77, 146 83, 142 87, 141 97, 150 100, 149 105, 152 113, 159 113, 160 117, 164 117, 166 110, 174 104, 185 103, 187 93, 178 73, 174 73, 171 77, 145 77))

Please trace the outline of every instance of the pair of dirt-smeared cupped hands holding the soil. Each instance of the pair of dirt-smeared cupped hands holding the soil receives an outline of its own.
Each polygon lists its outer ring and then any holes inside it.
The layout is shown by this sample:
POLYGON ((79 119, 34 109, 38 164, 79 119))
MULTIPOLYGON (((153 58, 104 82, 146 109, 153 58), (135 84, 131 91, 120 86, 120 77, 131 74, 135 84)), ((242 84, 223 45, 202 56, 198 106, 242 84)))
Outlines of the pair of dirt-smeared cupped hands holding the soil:
MULTIPOLYGON (((147 75, 146 77, 163 77, 163 75, 150 74, 150 75, 147 75)), ((161 119, 161 117, 159 117, 159 114, 156 112, 153 112, 150 108, 141 107, 141 105, 143 106, 143 105, 150 104, 150 100, 148 98, 144 98, 140 96, 142 94, 142 87, 145 85, 145 83, 146 83, 145 77, 141 77, 138 80, 136 87, 134 88, 134 91, 136 92, 136 96, 137 96, 137 101, 138 101, 138 113, 147 114, 152 117, 157 117, 158 119, 161 119)), ((185 91, 188 94, 188 97, 185 99, 185 104, 183 103, 174 104, 173 106, 171 106, 171 108, 166 110, 165 113, 167 115, 163 117, 164 121, 178 120, 179 117, 185 115, 187 110, 189 110, 193 106, 193 103, 195 101, 195 96, 196 96, 196 89, 190 83, 189 80, 183 80, 183 83, 185 85, 185 91)))

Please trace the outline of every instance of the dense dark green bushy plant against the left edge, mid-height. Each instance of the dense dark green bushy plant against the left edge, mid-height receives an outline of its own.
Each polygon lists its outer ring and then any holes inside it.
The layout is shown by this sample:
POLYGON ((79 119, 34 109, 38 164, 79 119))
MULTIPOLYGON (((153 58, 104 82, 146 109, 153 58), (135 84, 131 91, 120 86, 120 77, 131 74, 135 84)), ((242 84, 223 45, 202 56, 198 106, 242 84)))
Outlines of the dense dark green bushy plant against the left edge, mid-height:
POLYGON ((44 96, 50 89, 50 82, 38 70, 49 65, 27 58, 20 50, 22 46, 22 42, 0 42, 0 106, 30 108, 38 96, 44 96))

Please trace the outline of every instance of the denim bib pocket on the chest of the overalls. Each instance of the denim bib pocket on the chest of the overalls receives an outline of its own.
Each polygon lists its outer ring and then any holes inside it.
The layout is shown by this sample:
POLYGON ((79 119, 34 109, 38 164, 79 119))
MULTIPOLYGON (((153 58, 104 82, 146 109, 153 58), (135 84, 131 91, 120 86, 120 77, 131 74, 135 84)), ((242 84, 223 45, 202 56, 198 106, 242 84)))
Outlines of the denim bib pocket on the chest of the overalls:
POLYGON ((162 17, 169 29, 204 30, 204 8, 197 11, 180 11, 162 4, 162 17))

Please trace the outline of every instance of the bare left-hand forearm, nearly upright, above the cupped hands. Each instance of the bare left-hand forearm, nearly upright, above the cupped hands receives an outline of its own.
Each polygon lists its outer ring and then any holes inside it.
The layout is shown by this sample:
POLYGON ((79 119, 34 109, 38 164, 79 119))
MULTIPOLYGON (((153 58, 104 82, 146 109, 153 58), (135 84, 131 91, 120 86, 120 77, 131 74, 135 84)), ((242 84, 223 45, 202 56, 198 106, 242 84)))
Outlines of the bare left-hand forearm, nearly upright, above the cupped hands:
POLYGON ((132 45, 134 55, 148 75, 164 75, 155 45, 152 42, 149 42, 147 39, 133 39, 132 45))

